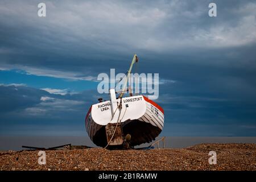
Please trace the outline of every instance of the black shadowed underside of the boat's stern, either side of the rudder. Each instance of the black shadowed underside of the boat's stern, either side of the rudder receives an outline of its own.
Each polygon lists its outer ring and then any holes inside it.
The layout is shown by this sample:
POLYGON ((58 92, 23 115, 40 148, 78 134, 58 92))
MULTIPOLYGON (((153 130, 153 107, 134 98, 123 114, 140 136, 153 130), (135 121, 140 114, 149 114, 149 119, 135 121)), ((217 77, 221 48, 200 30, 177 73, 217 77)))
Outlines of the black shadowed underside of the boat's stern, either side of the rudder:
MULTIPOLYGON (((155 140, 162 130, 159 127, 153 126, 150 123, 142 122, 139 120, 122 122, 123 136, 131 135, 130 146, 137 146, 142 143, 150 143, 155 140)), ((100 147, 105 147, 108 142, 106 139, 105 126, 93 137, 93 143, 100 147)))

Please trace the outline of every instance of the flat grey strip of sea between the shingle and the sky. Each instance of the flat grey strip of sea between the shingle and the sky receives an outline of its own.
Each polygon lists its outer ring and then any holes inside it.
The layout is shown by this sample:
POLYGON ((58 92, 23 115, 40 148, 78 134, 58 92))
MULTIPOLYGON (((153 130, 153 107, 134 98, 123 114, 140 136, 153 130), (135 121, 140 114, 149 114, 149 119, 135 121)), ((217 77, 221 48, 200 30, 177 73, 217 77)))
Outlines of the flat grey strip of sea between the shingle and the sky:
MULTIPOLYGON (((156 140, 135 146, 135 148, 150 146, 156 140)), ((166 137, 165 139, 166 148, 184 148, 201 143, 256 143, 256 137, 166 137)), ((97 147, 87 136, 0 136, 1 151, 25 150, 26 148, 22 146, 48 148, 64 144, 97 147)), ((159 142, 159 147, 162 148, 162 141, 159 142)))

